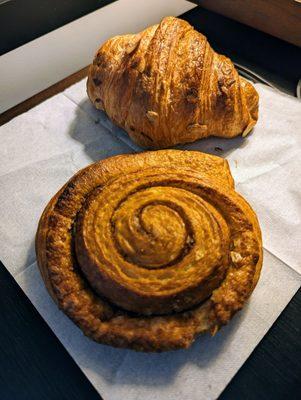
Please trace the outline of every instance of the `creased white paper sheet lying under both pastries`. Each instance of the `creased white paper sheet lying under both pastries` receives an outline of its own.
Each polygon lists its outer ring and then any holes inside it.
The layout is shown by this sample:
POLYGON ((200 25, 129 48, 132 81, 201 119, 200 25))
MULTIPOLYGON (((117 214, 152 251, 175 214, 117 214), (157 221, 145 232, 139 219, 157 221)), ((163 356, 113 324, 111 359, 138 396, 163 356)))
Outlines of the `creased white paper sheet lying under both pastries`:
POLYGON ((260 120, 250 136, 180 146, 228 159, 265 247, 248 305, 189 350, 144 354, 96 344, 57 309, 41 280, 34 235, 51 196, 92 161, 141 151, 92 107, 85 81, 0 127, 0 259, 105 400, 215 399, 300 287, 301 103, 256 88, 260 120))

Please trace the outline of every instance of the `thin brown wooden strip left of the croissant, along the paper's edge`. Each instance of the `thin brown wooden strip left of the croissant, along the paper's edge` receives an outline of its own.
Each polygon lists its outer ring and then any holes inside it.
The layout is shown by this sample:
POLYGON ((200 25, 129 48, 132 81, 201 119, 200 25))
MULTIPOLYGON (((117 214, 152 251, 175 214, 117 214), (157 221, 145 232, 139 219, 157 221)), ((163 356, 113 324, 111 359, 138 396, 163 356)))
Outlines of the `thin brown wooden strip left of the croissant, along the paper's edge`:
POLYGON ((6 124, 6 122, 10 121, 11 119, 15 118, 17 115, 24 113, 25 111, 30 110, 34 106, 42 103, 49 97, 54 96, 65 90, 67 87, 73 85, 74 83, 80 81, 85 76, 87 76, 88 68, 85 67, 74 74, 68 76, 67 78, 57 82, 56 84, 50 86, 49 88, 43 90, 40 93, 30 97, 29 99, 23 101, 20 104, 17 104, 15 107, 10 108, 9 110, 5 111, 4 113, 0 114, 0 126, 6 124))

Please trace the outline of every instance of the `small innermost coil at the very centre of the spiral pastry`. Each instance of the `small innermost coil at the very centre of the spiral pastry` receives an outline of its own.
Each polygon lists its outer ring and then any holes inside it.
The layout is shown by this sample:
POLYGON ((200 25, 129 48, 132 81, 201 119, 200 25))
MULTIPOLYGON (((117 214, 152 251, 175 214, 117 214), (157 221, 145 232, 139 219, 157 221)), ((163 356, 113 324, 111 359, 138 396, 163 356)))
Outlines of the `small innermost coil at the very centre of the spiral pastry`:
MULTIPOLYGON (((150 203, 137 208, 130 197, 115 212, 114 235, 124 258, 145 268, 162 268, 178 261, 193 239, 180 211, 168 204, 150 203)), ((188 227, 189 228, 189 227, 188 227)))

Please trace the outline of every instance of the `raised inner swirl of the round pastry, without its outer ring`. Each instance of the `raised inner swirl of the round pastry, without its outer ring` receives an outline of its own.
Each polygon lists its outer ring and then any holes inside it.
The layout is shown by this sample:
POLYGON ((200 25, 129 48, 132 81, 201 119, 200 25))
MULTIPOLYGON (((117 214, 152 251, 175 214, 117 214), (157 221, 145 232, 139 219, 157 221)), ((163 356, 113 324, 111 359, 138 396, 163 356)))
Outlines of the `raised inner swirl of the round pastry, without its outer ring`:
POLYGON ((90 195, 76 226, 78 261, 94 290, 125 309, 188 309, 224 277, 227 223, 200 182, 147 172, 90 195))

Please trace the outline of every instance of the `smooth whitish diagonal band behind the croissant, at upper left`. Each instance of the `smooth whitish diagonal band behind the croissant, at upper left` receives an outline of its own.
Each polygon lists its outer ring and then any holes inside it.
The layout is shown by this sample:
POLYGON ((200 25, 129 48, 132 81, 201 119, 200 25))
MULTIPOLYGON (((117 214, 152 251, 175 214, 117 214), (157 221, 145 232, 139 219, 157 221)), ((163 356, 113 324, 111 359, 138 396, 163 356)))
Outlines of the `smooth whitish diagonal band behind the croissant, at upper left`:
POLYGON ((0 57, 0 113, 92 62, 110 36, 195 7, 185 0, 119 0, 0 57))

